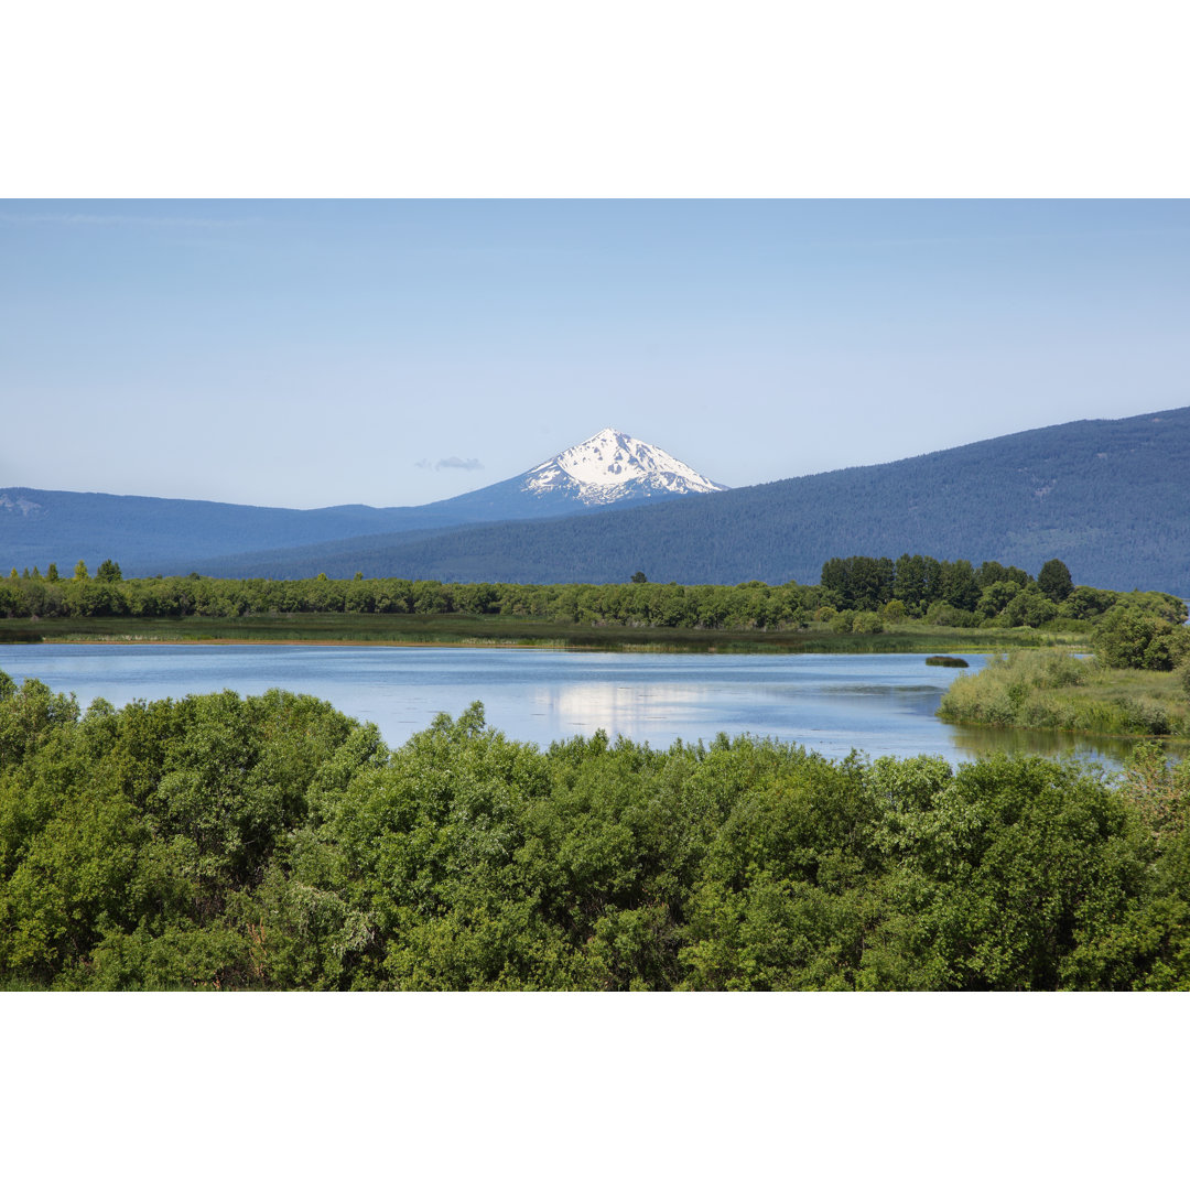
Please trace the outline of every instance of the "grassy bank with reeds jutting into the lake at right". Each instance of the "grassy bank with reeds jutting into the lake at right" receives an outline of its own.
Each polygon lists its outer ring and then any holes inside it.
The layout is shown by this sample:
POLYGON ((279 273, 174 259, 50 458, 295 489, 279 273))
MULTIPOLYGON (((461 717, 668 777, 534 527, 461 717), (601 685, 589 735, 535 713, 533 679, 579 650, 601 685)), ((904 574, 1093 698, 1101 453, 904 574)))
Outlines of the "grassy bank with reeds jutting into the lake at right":
POLYGON ((1064 649, 1009 653, 956 678, 938 714, 951 724, 1190 738, 1190 700, 1173 674, 1108 669, 1064 649))

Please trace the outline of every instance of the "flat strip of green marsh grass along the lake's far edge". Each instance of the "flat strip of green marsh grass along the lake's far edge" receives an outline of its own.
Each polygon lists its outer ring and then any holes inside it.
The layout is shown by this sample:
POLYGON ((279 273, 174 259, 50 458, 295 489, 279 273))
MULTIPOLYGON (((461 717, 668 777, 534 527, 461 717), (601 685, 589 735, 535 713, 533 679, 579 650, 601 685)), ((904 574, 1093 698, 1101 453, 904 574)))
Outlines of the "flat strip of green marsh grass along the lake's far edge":
POLYGON ((281 613, 130 619, 76 616, 0 621, 0 644, 23 641, 233 641, 259 644, 530 645, 569 649, 675 649, 744 652, 995 652, 1047 645, 1081 647, 1071 632, 947 628, 902 624, 876 634, 832 632, 825 624, 790 631, 625 627, 514 615, 281 613))

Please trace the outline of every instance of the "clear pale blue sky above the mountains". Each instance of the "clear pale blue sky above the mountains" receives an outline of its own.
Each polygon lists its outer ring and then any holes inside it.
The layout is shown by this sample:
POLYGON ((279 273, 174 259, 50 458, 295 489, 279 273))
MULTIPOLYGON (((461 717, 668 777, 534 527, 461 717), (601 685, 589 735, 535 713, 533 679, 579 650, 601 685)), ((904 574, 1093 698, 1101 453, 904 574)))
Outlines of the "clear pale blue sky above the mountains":
POLYGON ((0 202, 0 487, 415 505, 606 425, 740 487, 1188 364, 1186 201, 0 202))

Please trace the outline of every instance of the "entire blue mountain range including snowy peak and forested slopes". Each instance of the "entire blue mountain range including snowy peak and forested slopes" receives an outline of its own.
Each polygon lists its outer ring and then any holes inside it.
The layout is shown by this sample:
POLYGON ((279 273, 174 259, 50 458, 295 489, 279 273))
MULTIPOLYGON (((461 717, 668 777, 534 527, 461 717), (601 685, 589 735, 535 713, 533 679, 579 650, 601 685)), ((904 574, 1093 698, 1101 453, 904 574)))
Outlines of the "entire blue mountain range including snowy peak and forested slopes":
POLYGON ((1034 574, 1058 557, 1076 583, 1190 593, 1190 408, 731 491, 687 471, 603 431, 522 476, 409 509, 5 489, 0 565, 113 557, 126 574, 624 582, 644 570, 654 582, 779 583, 816 582, 835 556, 909 552, 1034 574), (55 545, 63 528, 69 547, 55 545))

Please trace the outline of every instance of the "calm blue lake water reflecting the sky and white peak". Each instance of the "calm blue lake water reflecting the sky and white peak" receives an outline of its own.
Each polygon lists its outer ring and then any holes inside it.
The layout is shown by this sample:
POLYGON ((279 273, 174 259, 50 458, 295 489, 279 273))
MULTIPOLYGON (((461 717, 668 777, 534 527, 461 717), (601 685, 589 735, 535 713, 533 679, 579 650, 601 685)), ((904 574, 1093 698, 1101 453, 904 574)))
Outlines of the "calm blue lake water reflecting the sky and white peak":
POLYGON ((0 645, 0 670, 105 697, 182 697, 282 687, 325 699, 376 724, 393 745, 445 710, 484 704, 489 726, 545 745, 603 728, 665 747, 719 732, 772 735, 828 757, 927 752, 952 763, 992 749, 1111 760, 1058 733, 947 727, 934 718, 942 691, 970 669, 926 665, 922 654, 596 653, 540 649, 327 645, 0 645))

